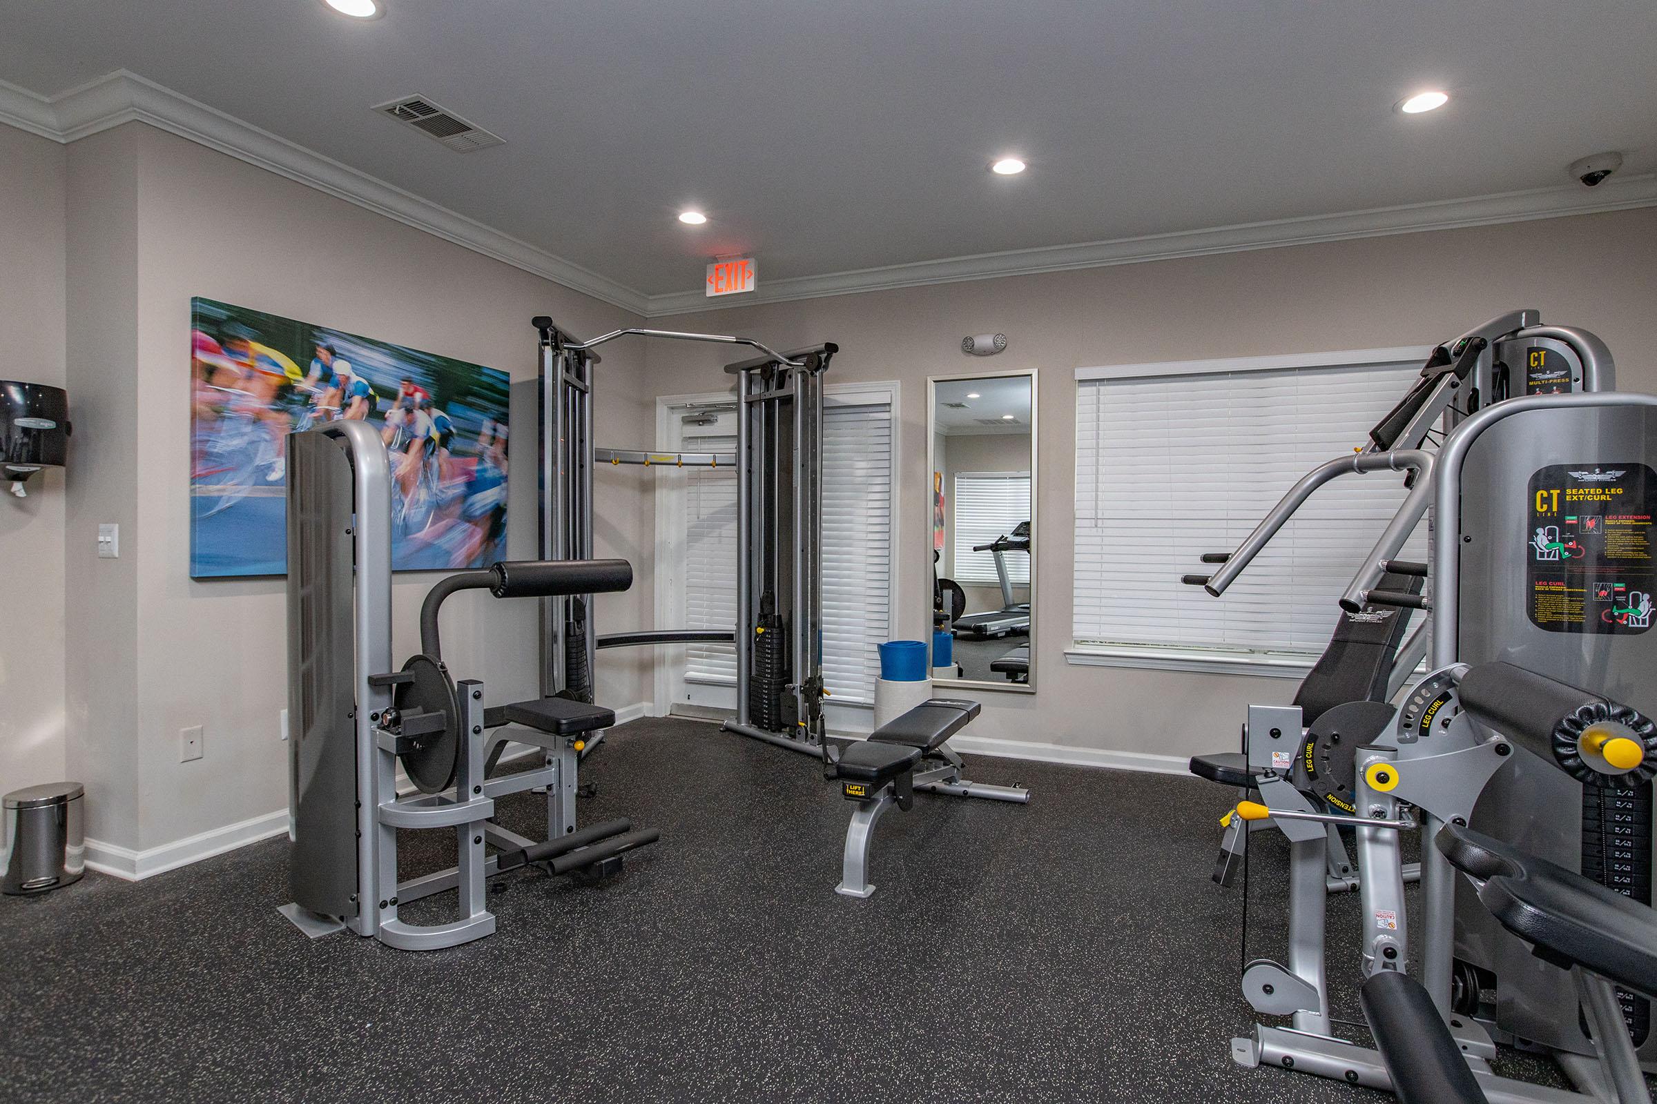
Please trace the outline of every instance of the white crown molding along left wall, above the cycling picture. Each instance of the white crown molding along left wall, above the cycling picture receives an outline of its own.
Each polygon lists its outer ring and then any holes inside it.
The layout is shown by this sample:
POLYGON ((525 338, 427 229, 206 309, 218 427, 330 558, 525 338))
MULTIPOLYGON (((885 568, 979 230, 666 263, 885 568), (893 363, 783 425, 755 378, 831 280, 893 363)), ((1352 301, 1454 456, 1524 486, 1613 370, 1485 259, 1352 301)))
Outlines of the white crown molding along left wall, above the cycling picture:
POLYGON ((181 96, 136 73, 121 70, 51 98, 36 96, 13 84, 0 84, 0 122, 56 142, 75 142, 134 121, 298 180, 318 192, 366 207, 635 314, 641 314, 648 305, 641 291, 242 122, 189 96, 181 96))

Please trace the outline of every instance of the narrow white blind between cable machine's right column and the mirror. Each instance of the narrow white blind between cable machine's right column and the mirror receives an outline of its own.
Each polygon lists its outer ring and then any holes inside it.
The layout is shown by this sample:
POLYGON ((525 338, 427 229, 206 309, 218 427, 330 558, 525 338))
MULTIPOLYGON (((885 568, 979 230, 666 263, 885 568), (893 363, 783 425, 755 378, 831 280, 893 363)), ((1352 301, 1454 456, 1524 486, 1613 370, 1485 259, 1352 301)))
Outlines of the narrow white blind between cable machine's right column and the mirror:
POLYGON ((873 705, 891 636, 891 404, 824 407, 824 685, 873 705))

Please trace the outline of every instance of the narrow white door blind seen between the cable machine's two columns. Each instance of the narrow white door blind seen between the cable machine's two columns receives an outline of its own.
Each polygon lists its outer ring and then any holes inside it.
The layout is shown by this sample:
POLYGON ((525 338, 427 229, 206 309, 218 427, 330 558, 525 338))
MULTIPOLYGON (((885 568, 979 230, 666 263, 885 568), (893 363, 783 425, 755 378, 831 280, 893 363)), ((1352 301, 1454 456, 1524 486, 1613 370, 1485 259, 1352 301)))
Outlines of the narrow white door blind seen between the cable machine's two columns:
MULTIPOLYGON (((736 452, 736 435, 684 434, 684 452, 736 452)), ((736 468, 686 468, 684 627, 736 624, 736 468)), ((736 684, 731 644, 686 646, 686 679, 736 684)))

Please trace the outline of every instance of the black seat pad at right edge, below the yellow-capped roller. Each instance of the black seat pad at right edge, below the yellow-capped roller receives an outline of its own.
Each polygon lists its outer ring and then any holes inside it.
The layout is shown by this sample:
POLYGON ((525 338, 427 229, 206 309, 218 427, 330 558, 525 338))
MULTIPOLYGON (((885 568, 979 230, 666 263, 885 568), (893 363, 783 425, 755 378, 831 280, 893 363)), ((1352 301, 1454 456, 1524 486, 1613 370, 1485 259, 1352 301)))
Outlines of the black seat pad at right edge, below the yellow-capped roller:
POLYGON ((1538 958, 1657 996, 1650 907, 1468 828, 1445 824, 1433 842, 1458 871, 1483 879, 1480 902, 1538 958))

